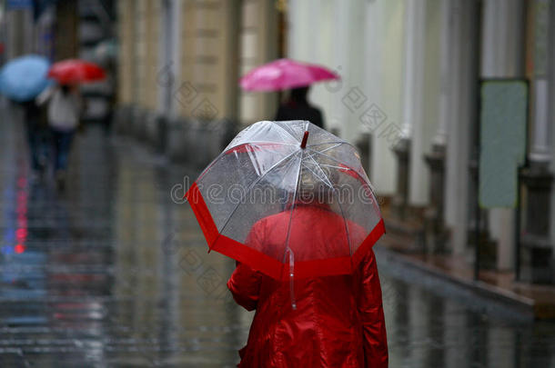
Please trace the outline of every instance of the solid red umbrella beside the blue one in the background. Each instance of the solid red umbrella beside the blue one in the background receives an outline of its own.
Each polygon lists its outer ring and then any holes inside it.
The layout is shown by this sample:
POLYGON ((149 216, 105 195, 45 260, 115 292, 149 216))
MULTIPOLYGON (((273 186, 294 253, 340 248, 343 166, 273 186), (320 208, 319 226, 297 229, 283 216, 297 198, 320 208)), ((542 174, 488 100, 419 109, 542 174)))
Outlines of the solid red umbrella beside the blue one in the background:
POLYGON ((48 77, 60 85, 98 82, 106 78, 100 66, 79 59, 67 59, 53 64, 48 70, 48 77))

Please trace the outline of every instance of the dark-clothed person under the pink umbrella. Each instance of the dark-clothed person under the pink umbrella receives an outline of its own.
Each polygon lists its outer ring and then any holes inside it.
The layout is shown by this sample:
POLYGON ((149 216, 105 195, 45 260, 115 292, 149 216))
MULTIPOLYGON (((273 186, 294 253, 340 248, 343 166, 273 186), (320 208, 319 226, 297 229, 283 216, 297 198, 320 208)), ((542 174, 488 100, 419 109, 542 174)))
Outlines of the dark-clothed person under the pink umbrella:
POLYGON ((276 120, 308 120, 325 129, 322 112, 308 102, 309 88, 310 86, 291 89, 286 102, 279 105, 276 120))

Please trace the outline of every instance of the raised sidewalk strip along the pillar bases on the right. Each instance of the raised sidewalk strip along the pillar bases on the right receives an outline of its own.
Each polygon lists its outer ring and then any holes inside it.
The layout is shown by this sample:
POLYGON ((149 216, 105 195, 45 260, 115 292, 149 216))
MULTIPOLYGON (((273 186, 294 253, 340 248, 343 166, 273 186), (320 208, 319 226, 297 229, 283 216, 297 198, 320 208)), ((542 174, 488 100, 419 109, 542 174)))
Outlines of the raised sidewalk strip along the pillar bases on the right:
MULTIPOLYGON (((388 229, 387 216, 385 223, 388 229)), ((389 231, 377 245, 378 252, 535 319, 555 319, 555 285, 515 282, 514 273, 496 270, 480 271, 479 280, 475 281, 473 264, 465 257, 417 251, 413 245, 418 236, 414 227, 409 224, 406 234, 389 231)))

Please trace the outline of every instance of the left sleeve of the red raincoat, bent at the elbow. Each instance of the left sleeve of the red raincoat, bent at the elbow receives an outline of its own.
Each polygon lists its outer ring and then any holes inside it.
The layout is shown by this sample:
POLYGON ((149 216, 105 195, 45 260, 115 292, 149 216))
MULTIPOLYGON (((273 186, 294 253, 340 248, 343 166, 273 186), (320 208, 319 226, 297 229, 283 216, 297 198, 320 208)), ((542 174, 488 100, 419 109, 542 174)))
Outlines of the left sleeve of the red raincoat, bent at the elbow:
MULTIPOLYGON (((255 225, 247 236, 247 245, 255 249, 261 249, 262 236, 255 225)), ((237 267, 229 281, 227 288, 233 294, 233 299, 247 311, 257 309, 260 293, 260 280, 262 275, 250 268, 247 264, 237 262, 237 267)))

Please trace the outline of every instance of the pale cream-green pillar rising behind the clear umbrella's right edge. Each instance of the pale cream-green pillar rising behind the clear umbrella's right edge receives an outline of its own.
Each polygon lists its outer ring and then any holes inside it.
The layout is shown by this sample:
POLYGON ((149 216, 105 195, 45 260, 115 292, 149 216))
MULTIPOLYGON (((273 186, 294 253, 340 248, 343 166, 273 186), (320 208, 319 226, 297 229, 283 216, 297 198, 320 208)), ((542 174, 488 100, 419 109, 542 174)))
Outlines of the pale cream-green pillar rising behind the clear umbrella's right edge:
MULTIPOLYGON (((400 130, 403 91, 403 45, 406 6, 404 1, 368 2, 367 40, 365 67, 368 100, 372 104, 364 108, 362 124, 368 124, 371 133, 370 181, 378 194, 392 196, 399 193, 396 184, 407 183, 398 180, 398 171, 408 173, 408 169, 397 170, 397 155, 391 149, 395 140, 384 136, 387 129, 400 130), (378 52, 379 50, 379 52, 378 52), (366 116, 371 119, 366 119, 366 116)), ((407 152, 407 150, 404 150, 407 152)), ((407 193, 404 189, 402 193, 407 193)))

